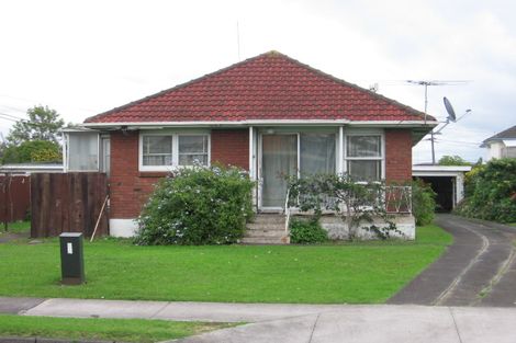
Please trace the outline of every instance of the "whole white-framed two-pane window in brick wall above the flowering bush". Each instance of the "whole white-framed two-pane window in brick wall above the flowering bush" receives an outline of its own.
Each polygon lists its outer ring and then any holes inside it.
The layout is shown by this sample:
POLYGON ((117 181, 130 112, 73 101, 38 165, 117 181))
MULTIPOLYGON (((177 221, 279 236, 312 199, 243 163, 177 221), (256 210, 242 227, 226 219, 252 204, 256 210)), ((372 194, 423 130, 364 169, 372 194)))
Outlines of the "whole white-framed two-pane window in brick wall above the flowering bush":
POLYGON ((209 165, 206 134, 142 134, 142 171, 168 171, 173 167, 209 165))

